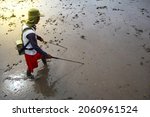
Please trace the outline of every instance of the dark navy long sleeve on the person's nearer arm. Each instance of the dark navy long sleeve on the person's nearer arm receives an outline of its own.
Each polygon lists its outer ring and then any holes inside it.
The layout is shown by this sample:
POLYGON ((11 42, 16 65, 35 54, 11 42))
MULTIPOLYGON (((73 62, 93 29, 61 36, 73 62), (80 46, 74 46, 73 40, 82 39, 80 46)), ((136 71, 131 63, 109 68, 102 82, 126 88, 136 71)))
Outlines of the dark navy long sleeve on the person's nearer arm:
POLYGON ((43 56, 47 56, 47 53, 44 52, 38 45, 37 45, 37 40, 35 38, 35 34, 34 33, 30 33, 27 35, 27 38, 29 39, 32 47, 40 54, 42 54, 43 56))

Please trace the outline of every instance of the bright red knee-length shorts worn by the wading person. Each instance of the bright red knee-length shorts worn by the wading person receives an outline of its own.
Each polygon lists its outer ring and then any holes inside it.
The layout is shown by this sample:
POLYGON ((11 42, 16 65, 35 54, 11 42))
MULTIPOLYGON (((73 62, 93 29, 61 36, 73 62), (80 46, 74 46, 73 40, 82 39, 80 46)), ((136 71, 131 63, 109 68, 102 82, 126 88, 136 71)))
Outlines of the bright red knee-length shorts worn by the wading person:
POLYGON ((38 67, 38 59, 41 59, 42 55, 39 53, 36 53, 35 55, 27 55, 25 54, 26 63, 28 66, 28 70, 30 72, 33 72, 34 68, 38 67))

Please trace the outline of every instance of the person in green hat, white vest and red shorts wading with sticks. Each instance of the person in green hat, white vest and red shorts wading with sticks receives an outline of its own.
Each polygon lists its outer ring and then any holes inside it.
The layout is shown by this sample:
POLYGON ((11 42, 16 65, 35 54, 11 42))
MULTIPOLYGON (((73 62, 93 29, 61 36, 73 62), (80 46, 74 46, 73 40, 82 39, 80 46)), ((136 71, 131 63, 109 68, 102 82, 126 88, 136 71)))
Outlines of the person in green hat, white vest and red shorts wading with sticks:
POLYGON ((24 46, 27 44, 25 48, 25 60, 27 64, 27 77, 34 79, 34 69, 38 67, 39 59, 42 60, 44 65, 47 65, 46 59, 51 59, 51 55, 47 54, 43 51, 37 43, 37 40, 44 42, 44 40, 36 34, 36 24, 40 21, 40 14, 39 10, 36 8, 32 8, 28 11, 28 19, 26 23, 23 25, 23 44, 24 46))

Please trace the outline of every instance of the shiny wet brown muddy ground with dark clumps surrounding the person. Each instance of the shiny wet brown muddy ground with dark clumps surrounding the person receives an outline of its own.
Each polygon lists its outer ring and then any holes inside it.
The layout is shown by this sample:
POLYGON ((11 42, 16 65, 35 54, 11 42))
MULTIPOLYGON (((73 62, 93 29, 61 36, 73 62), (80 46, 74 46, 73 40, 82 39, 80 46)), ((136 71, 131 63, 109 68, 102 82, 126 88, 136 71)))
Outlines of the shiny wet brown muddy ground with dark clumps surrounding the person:
POLYGON ((150 99, 149 0, 0 1, 0 99, 150 99), (53 56, 26 77, 15 50, 27 10, 45 15, 39 45, 53 56), (55 45, 54 45, 55 44, 55 45), (63 46, 63 47, 62 47, 63 46))

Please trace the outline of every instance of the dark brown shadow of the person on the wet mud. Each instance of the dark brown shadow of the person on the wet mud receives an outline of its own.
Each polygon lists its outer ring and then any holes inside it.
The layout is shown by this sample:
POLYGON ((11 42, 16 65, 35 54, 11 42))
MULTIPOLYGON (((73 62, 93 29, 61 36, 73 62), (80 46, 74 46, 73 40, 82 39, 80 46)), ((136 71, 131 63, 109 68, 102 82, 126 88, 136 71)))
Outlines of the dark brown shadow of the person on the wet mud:
POLYGON ((34 89, 35 92, 41 93, 43 96, 54 96, 56 93, 55 84, 57 81, 51 82, 49 76, 49 68, 44 67, 37 72, 35 76, 34 89))

